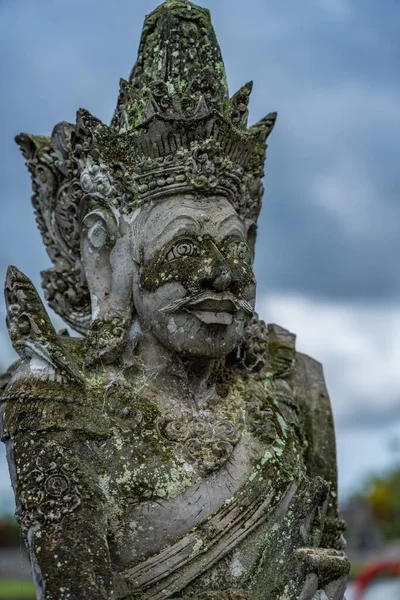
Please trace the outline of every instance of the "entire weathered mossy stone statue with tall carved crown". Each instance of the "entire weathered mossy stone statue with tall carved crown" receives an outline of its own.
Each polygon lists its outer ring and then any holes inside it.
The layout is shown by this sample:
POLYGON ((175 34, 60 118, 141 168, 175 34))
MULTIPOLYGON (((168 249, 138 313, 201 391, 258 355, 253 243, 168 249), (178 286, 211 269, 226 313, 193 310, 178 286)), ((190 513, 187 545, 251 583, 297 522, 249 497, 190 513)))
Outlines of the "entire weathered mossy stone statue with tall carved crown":
POLYGON ((57 334, 10 267, 3 439, 37 598, 343 598, 321 365, 254 313, 266 139, 207 10, 145 20, 108 127, 17 141, 57 334))

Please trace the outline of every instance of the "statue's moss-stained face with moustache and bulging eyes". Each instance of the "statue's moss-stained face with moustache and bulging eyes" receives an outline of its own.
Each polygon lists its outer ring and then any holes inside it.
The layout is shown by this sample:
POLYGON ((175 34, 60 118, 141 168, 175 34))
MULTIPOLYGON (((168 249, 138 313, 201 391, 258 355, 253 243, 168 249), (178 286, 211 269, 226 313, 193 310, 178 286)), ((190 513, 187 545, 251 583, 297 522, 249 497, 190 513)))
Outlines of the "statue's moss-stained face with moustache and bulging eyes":
POLYGON ((142 330, 185 357, 240 342, 255 303, 244 227, 225 198, 177 196, 133 224, 133 300, 142 330))

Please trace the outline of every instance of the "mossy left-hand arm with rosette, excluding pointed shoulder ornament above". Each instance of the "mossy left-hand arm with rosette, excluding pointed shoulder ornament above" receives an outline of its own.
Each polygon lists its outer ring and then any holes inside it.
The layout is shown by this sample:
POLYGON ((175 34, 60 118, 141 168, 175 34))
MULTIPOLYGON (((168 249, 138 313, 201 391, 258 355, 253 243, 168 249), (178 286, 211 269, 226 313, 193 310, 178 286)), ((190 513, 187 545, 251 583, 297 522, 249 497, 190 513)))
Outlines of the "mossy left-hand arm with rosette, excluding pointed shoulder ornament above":
POLYGON ((71 401, 71 389, 59 384, 56 393, 53 385, 48 397, 51 382, 32 378, 18 393, 18 377, 31 368, 24 362, 6 389, 2 426, 36 595, 108 600, 112 572, 96 442, 74 426, 81 407, 71 401))

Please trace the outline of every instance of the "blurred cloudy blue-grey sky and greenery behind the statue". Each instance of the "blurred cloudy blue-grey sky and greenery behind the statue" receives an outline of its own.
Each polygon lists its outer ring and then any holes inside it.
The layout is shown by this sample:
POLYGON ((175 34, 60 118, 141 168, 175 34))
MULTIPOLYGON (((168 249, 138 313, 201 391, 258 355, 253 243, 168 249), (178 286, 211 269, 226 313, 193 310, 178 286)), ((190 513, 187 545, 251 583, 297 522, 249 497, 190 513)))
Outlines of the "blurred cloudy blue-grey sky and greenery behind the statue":
MULTIPOLYGON (((40 289, 50 266, 14 136, 50 135, 80 107, 109 122, 158 3, 0 0, 1 281, 15 264, 40 289)), ((258 312, 324 365, 354 572, 376 559, 400 564, 400 1, 201 4, 231 93, 255 82, 250 121, 279 113, 259 221, 258 312)), ((15 355, 2 300, 0 311, 2 371, 15 355)), ((0 598, 30 597, 3 448, 0 471, 0 598)), ((396 581, 365 597, 400 598, 400 587, 388 593, 396 581)))

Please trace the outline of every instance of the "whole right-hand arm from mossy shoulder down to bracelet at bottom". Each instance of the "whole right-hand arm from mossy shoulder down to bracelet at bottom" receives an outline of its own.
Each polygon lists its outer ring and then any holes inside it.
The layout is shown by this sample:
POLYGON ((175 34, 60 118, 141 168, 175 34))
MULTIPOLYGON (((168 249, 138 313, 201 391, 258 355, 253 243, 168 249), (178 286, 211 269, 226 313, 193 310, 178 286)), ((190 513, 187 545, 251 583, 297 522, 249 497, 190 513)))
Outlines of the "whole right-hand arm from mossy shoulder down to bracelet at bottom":
MULTIPOLYGON (((281 589, 282 597, 342 600, 349 562, 343 553, 344 523, 337 507, 331 405, 322 365, 296 352, 295 340, 296 336, 290 331, 275 324, 268 325, 264 386, 267 384, 266 389, 270 386, 281 415, 298 437, 305 477, 296 483, 299 486, 296 495, 279 527, 270 530, 270 554, 266 555, 265 564, 271 569, 279 556, 278 564, 284 565, 276 586, 281 589), (276 538, 272 541, 274 531, 276 538)), ((279 572, 279 568, 274 572, 279 572)))

